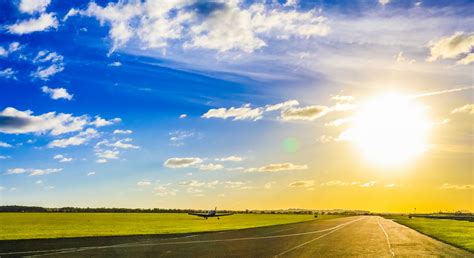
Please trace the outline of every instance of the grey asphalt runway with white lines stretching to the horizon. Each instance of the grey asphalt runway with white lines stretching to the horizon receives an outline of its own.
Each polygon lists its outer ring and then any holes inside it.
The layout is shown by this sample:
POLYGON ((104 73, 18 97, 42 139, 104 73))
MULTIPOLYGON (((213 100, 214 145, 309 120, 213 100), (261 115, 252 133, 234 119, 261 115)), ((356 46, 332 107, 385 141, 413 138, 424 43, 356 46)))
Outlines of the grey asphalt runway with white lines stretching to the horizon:
POLYGON ((0 256, 474 257, 474 254, 391 220, 357 216, 187 235, 0 241, 0 256))

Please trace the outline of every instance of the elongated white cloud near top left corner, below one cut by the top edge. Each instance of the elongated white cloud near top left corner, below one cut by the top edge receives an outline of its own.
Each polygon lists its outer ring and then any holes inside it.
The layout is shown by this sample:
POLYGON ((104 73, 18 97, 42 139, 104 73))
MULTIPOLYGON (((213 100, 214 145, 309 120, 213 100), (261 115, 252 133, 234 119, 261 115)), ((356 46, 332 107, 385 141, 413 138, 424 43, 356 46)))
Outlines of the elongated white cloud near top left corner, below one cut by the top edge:
POLYGON ((56 29, 58 20, 54 13, 43 13, 38 18, 21 21, 13 25, 7 26, 8 32, 11 34, 29 34, 32 32, 46 31, 50 28, 56 29))

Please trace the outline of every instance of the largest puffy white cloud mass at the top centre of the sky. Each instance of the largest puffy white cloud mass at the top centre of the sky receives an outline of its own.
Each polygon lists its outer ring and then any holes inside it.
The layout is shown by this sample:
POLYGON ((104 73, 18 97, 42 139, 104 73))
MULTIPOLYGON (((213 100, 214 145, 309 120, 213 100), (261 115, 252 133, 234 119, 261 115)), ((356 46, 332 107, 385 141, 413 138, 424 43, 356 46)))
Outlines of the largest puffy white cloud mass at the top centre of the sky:
POLYGON ((268 8, 264 4, 242 8, 237 1, 228 2, 191 27, 192 39, 184 46, 251 53, 267 46, 265 38, 287 40, 326 36, 329 26, 325 20, 314 10, 299 12, 268 8))

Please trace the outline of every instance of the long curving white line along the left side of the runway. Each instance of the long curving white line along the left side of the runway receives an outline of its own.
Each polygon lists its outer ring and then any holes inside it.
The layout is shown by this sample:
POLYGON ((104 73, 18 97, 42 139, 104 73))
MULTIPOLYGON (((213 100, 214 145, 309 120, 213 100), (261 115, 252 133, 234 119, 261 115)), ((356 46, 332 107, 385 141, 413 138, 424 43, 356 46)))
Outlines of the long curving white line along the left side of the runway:
MULTIPOLYGON (((293 236, 303 236, 303 235, 311 235, 321 232, 333 231, 337 230, 341 227, 344 227, 350 223, 359 221, 364 218, 355 219, 349 222, 345 222, 334 226, 332 228, 309 231, 309 232, 302 232, 302 233, 293 233, 293 234, 284 234, 284 235, 274 235, 274 236, 260 236, 260 237, 242 237, 242 238, 229 238, 229 239, 213 239, 213 240, 195 240, 195 241, 180 241, 180 242, 165 242, 165 243, 143 243, 136 242, 136 243, 126 243, 126 244, 119 244, 119 245, 109 245, 109 246, 91 246, 91 247, 79 247, 74 249, 57 249, 57 250, 42 250, 42 251, 28 251, 28 252, 21 252, 21 253, 37 253, 35 256, 45 256, 45 255, 57 255, 57 254, 66 254, 66 253, 75 253, 75 252, 82 252, 88 250, 96 250, 96 249, 108 249, 108 248, 127 248, 127 247, 145 247, 145 246, 156 246, 156 245, 182 245, 182 244, 201 244, 201 243, 217 243, 217 242, 233 242, 233 241, 246 241, 246 240, 260 240, 260 239, 275 239, 275 238, 284 238, 284 237, 293 237, 293 236), (45 252, 51 252, 46 253, 45 252)), ((332 232, 330 232, 332 233, 332 232)), ((14 253, 3 253, 1 255, 10 255, 14 253)), ((20 253, 16 253, 20 254, 20 253)))

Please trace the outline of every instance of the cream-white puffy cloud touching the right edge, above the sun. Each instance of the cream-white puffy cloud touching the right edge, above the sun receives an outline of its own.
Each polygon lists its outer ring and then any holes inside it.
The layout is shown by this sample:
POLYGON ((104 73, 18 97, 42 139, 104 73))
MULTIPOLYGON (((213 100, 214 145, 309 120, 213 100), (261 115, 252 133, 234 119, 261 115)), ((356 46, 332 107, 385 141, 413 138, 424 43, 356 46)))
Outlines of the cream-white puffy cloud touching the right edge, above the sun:
POLYGON ((469 54, 474 47, 474 33, 456 32, 452 36, 430 42, 431 56, 429 62, 442 59, 454 59, 462 54, 469 54))

